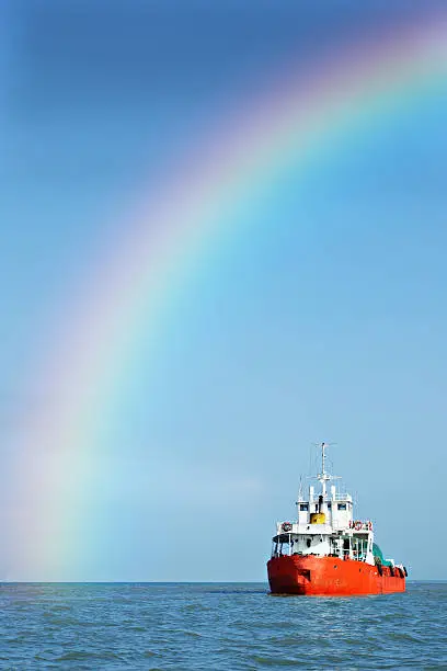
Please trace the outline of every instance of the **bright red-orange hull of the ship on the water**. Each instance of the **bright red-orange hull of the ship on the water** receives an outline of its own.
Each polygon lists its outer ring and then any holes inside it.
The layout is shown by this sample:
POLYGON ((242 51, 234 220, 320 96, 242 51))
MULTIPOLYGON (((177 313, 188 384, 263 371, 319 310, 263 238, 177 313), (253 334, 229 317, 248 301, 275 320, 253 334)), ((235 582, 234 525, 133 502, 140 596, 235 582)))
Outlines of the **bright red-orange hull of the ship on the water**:
POLYGON ((267 562, 273 594, 390 594, 405 591, 405 577, 398 568, 370 566, 354 559, 291 555, 267 562), (392 576, 394 572, 394 576, 392 576))

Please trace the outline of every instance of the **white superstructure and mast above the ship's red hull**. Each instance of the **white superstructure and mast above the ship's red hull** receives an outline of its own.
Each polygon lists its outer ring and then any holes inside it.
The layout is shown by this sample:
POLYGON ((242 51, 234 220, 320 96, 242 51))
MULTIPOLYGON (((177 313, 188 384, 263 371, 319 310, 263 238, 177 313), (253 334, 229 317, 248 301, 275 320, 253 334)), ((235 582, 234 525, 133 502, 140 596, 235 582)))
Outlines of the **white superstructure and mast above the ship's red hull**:
POLYGON ((330 556, 374 565, 373 523, 354 520, 351 494, 337 492, 335 485, 331 485, 328 491, 328 484, 339 478, 325 470, 326 448, 326 443, 322 443, 322 468, 316 478, 321 484, 320 493, 316 494, 314 487, 310 486, 308 498, 298 497, 297 519, 277 522, 272 557, 330 556))

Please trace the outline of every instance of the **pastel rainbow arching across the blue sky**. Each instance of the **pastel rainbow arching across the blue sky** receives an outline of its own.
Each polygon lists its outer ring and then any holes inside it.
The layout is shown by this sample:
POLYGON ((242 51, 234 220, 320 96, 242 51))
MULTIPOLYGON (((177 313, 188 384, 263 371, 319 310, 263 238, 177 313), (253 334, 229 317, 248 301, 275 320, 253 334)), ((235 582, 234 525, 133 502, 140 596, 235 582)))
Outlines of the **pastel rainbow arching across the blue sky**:
POLYGON ((431 95, 446 75, 447 26, 439 16, 352 44, 305 71, 288 64, 208 125, 173 177, 152 185, 114 227, 91 273, 67 296, 69 307, 55 320, 62 328, 32 372, 48 380, 55 398, 36 408, 33 436, 19 451, 27 508, 15 577, 68 575, 80 553, 92 551, 82 545, 88 512, 81 499, 96 418, 125 375, 136 331, 144 322, 147 340, 157 341, 176 287, 231 227, 225 213, 291 163, 305 169, 348 134, 367 133, 431 95))

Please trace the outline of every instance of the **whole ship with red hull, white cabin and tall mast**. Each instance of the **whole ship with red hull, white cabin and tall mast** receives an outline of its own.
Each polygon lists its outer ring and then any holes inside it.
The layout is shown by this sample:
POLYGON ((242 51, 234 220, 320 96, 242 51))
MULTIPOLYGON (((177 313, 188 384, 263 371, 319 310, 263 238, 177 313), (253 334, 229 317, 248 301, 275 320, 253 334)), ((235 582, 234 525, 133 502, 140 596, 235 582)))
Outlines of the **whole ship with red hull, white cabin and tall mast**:
POLYGON ((267 562, 273 594, 340 595, 388 594, 405 591, 406 569, 385 559, 374 542, 373 523, 353 518, 353 499, 339 493, 339 479, 325 470, 321 444, 321 493, 309 488, 300 494, 297 520, 278 522, 267 562))

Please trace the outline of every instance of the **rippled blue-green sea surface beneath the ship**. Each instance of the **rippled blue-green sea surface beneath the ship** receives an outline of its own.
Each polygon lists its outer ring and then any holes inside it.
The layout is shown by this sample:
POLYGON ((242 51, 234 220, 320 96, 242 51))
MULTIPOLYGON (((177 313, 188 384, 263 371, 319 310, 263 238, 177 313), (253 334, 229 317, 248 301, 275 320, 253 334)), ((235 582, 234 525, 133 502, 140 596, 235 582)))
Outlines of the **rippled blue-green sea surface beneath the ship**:
POLYGON ((447 669, 447 583, 272 596, 264 583, 2 583, 0 669, 447 669))

